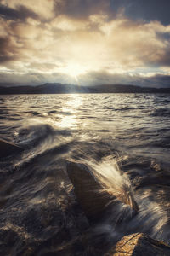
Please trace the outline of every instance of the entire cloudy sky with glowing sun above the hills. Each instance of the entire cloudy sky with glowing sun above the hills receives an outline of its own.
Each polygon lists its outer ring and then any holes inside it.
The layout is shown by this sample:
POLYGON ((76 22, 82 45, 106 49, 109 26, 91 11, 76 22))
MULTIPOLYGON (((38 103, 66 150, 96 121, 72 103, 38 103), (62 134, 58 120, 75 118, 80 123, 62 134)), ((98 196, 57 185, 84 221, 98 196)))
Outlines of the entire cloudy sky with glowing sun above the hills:
POLYGON ((170 86, 169 0, 0 0, 0 83, 170 86))

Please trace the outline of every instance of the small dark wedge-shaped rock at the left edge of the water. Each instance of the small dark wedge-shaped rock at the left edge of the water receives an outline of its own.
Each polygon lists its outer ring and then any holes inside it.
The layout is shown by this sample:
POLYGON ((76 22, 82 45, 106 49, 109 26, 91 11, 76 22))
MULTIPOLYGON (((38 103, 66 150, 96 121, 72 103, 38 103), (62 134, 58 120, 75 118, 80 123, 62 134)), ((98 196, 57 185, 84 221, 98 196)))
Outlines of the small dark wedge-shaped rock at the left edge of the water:
POLYGON ((22 152, 24 149, 0 139, 0 158, 22 152))

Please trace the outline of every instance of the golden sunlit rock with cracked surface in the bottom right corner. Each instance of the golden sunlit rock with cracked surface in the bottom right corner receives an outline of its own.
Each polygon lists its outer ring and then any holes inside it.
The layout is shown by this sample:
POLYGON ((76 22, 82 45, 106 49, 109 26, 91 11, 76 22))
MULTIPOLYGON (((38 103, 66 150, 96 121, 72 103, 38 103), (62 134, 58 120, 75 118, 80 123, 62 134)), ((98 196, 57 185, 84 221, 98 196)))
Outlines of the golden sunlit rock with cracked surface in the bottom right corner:
POLYGON ((105 256, 169 256, 170 247, 144 234, 136 233, 122 237, 105 256))

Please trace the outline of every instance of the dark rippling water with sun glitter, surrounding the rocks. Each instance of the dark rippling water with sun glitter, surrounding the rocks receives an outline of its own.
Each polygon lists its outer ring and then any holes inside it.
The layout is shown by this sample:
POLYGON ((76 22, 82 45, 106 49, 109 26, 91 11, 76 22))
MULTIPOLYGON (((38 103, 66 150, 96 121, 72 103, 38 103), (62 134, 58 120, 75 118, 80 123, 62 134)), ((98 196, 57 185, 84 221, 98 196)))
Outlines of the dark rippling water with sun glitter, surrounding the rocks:
POLYGON ((102 255, 133 232, 169 242, 169 95, 0 98, 0 137, 25 148, 0 160, 1 255, 102 255), (108 172, 115 188, 130 183, 139 213, 126 218, 121 206, 90 226, 66 173, 71 160, 108 172))

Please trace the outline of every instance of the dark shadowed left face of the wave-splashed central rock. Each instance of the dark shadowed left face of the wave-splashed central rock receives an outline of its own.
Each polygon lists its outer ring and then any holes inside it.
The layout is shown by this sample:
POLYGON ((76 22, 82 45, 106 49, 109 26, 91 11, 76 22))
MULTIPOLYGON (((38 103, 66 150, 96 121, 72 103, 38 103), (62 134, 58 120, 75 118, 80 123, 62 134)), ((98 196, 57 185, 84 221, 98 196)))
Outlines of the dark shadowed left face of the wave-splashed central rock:
POLYGON ((82 206, 88 220, 101 218, 105 207, 113 200, 112 196, 103 191, 103 187, 87 166, 76 163, 67 165, 67 173, 74 185, 77 200, 82 206))

